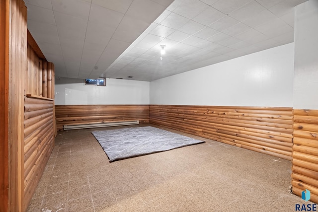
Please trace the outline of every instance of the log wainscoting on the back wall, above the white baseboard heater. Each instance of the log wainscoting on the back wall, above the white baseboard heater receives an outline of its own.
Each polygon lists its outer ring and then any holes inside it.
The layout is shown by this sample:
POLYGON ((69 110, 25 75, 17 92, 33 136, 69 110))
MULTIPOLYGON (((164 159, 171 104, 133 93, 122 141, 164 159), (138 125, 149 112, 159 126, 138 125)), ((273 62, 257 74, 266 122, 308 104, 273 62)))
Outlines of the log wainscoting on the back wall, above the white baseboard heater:
POLYGON ((57 129, 64 125, 137 121, 149 123, 149 105, 55 105, 57 129))

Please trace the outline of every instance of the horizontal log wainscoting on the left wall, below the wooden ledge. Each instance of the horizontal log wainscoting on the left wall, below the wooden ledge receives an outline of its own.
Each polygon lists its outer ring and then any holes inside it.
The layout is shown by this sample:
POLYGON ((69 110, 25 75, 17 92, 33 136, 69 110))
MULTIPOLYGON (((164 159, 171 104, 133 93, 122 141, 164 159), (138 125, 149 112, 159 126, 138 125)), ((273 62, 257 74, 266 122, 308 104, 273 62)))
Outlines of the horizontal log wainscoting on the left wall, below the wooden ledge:
POLYGON ((54 147, 54 101, 24 97, 24 205, 25 211, 54 147))

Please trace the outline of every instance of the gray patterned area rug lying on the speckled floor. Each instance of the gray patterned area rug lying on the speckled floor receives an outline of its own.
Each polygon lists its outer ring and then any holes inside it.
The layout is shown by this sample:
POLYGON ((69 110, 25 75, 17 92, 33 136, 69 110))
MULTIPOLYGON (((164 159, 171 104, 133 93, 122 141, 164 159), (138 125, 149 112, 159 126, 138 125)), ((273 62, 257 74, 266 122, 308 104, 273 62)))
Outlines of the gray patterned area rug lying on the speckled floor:
POLYGON ((109 162, 205 142, 150 126, 91 133, 109 162))

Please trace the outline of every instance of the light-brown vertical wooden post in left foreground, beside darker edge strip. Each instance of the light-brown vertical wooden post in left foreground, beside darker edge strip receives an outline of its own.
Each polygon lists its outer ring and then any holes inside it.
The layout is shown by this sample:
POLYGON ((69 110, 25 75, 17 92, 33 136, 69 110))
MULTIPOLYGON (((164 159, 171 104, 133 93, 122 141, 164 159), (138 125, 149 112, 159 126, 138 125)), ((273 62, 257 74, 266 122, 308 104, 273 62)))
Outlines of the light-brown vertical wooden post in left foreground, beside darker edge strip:
MULTIPOLYGON (((8 58, 8 211, 23 208, 23 95, 27 69, 27 21, 23 0, 10 0, 8 58), (17 77, 18 76, 18 77, 17 77)), ((2 49, 2 47, 1 47, 2 49)), ((5 170, 6 171, 6 170, 5 170)))

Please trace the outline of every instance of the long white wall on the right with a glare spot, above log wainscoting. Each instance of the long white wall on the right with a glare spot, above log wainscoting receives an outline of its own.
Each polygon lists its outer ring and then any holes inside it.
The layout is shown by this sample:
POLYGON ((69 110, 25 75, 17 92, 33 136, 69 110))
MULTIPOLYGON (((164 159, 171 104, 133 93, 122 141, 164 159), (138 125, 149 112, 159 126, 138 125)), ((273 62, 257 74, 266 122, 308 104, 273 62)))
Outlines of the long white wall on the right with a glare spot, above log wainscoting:
POLYGON ((294 43, 150 83, 151 104, 292 107, 294 43))

